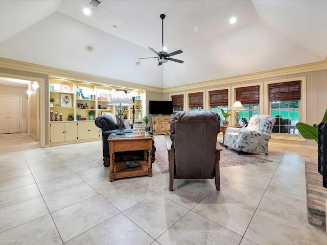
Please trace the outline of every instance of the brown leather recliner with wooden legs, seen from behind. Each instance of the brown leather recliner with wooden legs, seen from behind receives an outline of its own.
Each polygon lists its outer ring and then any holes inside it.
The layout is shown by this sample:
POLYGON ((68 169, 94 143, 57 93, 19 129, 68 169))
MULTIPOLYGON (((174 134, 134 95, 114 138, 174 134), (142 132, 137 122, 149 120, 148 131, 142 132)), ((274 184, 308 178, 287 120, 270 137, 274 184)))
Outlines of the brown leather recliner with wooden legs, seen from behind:
POLYGON ((219 125, 220 117, 214 111, 181 111, 172 117, 169 190, 173 190, 174 179, 213 178, 220 190, 219 125))

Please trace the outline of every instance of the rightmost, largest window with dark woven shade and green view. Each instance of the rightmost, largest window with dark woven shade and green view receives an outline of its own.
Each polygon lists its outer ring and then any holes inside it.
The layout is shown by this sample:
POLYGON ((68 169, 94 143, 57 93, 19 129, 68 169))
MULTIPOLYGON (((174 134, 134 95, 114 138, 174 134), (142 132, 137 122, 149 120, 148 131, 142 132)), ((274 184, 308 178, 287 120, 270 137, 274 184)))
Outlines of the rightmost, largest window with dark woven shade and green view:
POLYGON ((269 84, 269 111, 276 118, 273 133, 298 135, 300 98, 301 81, 269 84))

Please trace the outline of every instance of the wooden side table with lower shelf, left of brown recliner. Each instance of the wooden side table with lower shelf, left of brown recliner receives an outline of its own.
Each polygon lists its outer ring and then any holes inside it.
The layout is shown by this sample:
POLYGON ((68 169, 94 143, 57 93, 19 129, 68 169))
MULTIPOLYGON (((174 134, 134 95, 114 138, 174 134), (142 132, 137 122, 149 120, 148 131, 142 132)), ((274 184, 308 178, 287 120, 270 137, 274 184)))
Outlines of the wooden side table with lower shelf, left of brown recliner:
POLYGON ((110 173, 109 181, 115 179, 149 176, 152 177, 152 139, 154 137, 146 132, 145 136, 133 136, 133 134, 116 135, 110 134, 108 138, 110 154, 110 173), (115 162, 116 152, 128 152, 144 150, 144 160, 136 160, 140 165, 137 167, 128 167, 125 162, 115 162), (149 154, 148 154, 149 153, 149 154), (148 157, 149 156, 149 157, 148 157))

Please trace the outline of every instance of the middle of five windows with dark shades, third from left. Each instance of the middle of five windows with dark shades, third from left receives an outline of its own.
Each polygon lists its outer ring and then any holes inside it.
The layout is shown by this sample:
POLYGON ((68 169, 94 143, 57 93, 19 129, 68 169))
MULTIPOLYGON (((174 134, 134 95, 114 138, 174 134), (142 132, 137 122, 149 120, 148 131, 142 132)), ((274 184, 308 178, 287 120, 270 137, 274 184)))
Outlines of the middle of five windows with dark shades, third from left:
POLYGON ((209 105, 212 111, 216 111, 221 120, 220 124, 223 124, 224 117, 221 114, 221 110, 228 110, 228 89, 209 91, 209 105))

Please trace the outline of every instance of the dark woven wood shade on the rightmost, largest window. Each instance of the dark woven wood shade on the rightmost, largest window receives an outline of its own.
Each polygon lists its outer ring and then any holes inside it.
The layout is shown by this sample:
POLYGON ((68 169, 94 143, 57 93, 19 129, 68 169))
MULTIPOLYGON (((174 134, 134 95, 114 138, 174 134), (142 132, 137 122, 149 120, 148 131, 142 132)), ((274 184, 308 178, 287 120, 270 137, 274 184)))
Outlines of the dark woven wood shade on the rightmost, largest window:
POLYGON ((301 81, 269 84, 270 101, 295 101, 301 99, 301 81))

